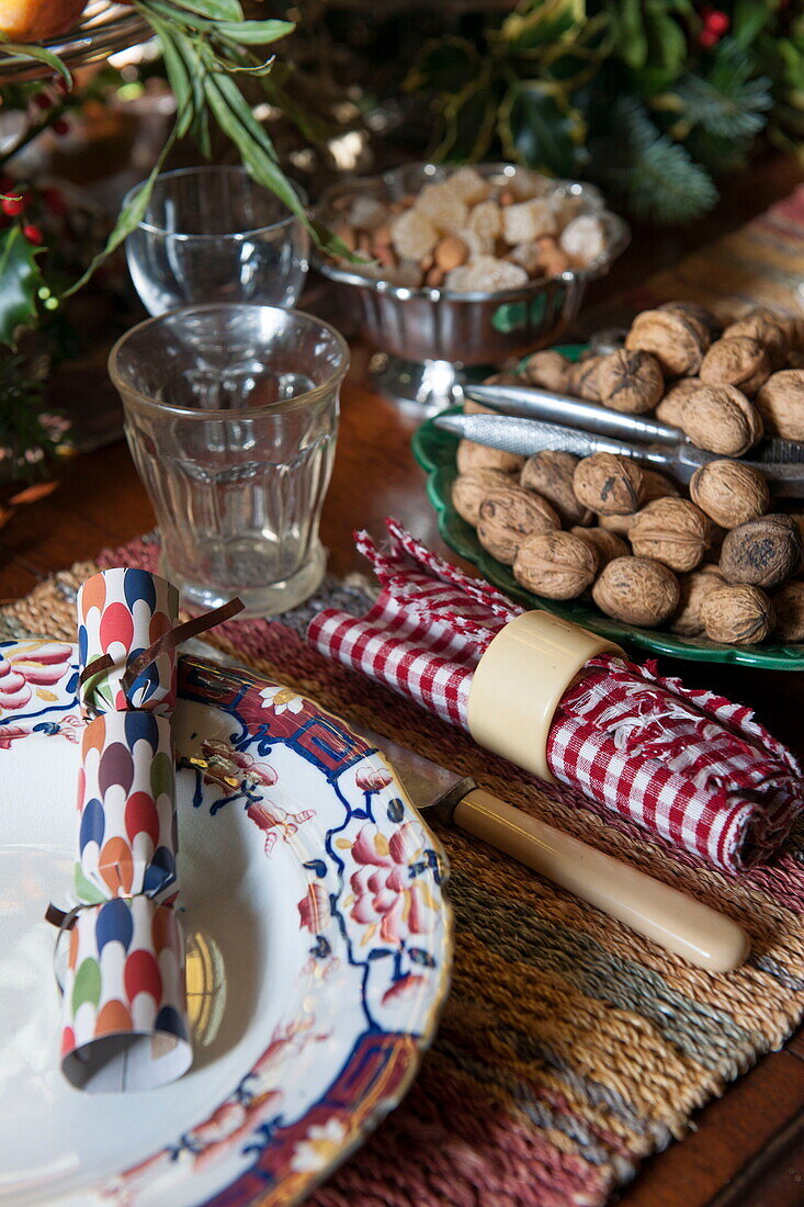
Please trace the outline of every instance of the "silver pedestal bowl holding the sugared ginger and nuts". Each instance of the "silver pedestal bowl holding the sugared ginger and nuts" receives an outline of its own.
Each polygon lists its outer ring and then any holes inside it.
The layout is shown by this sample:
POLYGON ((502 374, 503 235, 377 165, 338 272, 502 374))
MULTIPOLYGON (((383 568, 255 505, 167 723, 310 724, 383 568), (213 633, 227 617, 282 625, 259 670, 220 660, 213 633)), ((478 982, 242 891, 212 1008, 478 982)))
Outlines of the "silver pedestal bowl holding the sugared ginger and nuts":
MULTIPOLYGON (((414 163, 381 176, 343 181, 324 193, 315 216, 337 229, 356 202, 366 209, 372 204, 378 216, 379 206, 392 204, 398 212, 400 203, 409 206, 413 197, 456 170, 462 169, 414 163)), ((499 196, 509 191, 515 197, 520 182, 536 177, 514 164, 476 164, 472 171, 499 196)), ((543 180, 550 198, 566 202, 576 218, 596 220, 601 247, 583 267, 559 263, 555 275, 535 268, 537 275, 520 284, 482 291, 450 287, 455 280, 450 273, 438 285, 400 284, 391 279, 396 274, 378 275, 381 264, 374 275, 366 275, 346 261, 317 257, 317 269, 337 282, 361 334, 378 349, 372 372, 384 393, 426 413, 441 410, 462 401, 465 380, 482 379, 490 366, 554 343, 576 316, 588 281, 602 276, 628 244, 628 227, 606 210, 594 186, 543 180)), ((456 233, 460 237, 460 229, 456 233)))

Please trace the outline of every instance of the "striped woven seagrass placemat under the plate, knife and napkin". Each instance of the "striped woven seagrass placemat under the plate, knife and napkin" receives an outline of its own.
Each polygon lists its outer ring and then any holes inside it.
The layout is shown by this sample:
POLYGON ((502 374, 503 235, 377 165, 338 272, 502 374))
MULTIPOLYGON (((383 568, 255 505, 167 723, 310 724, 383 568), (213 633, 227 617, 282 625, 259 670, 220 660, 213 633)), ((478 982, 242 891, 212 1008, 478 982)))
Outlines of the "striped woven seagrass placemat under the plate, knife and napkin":
MULTIPOLYGON (((153 538, 58 575, 0 612, 0 637, 75 637, 75 590, 97 568, 156 568, 153 538)), ((327 663, 301 634, 311 610, 365 611, 328 582, 282 623, 231 622, 211 642, 349 711, 659 880, 751 934, 729 975, 691 968, 456 830, 454 981, 438 1037, 403 1104, 319 1191, 316 1207, 595 1207, 639 1161, 683 1135, 804 1014, 804 826, 771 869, 739 880, 672 851, 566 791, 548 789, 385 688, 327 663)))

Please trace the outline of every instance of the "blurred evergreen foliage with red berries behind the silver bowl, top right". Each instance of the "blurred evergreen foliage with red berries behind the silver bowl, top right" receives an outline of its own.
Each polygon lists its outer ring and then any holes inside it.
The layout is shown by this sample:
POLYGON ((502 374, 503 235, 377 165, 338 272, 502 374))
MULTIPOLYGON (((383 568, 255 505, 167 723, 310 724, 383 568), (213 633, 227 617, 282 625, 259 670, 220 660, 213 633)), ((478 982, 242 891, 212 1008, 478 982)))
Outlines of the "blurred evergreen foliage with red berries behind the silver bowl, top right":
POLYGON ((711 209, 715 179, 763 132, 800 152, 804 13, 777 0, 520 0, 427 42, 407 87, 435 100, 437 156, 585 176, 633 214, 683 222, 711 209))

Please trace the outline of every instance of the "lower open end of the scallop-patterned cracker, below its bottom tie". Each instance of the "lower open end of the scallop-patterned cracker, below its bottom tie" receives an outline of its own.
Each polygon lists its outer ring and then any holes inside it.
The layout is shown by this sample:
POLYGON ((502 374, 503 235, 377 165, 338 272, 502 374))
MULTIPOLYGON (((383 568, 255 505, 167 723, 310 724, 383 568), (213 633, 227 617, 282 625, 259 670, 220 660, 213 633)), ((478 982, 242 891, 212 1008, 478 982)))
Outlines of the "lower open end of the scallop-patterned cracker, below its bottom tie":
POLYGON ((77 1089, 150 1090, 192 1062, 185 943, 174 910, 116 898, 77 915, 62 1004, 62 1071, 77 1089))

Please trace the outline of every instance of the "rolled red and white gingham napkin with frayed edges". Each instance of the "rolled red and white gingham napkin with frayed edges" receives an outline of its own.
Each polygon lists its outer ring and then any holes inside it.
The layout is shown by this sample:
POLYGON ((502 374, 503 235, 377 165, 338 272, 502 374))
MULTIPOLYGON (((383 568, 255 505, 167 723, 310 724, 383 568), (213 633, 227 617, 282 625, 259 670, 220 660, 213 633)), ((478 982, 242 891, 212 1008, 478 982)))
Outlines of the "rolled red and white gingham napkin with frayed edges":
MULTIPOLYGON (((360 619, 320 612, 308 639, 466 729, 473 670, 522 608, 386 524, 386 549, 357 535, 383 588, 374 607, 360 619)), ((547 762, 563 783, 734 871, 768 859, 803 803, 798 763, 750 709, 612 655, 564 694, 547 762)))

